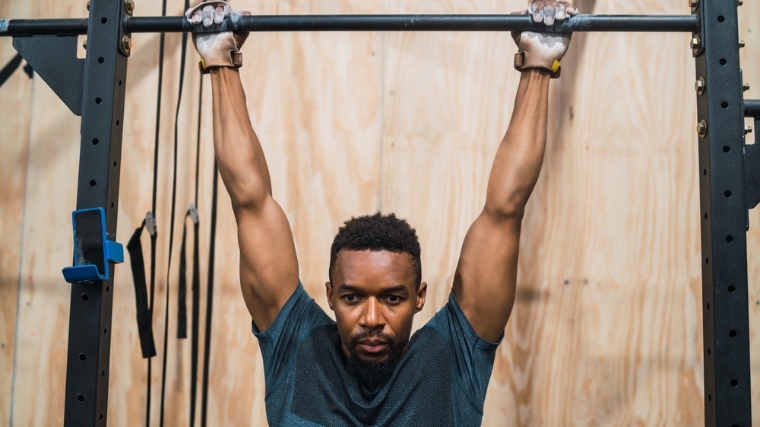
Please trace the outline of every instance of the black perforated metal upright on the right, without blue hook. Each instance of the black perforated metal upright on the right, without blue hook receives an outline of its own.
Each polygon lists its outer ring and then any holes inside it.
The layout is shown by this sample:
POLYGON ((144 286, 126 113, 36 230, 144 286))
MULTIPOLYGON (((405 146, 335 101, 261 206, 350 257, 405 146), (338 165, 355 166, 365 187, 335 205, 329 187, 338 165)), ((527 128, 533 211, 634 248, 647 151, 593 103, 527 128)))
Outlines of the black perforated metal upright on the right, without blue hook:
POLYGON ((737 2, 700 0, 696 54, 706 426, 752 425, 737 2))

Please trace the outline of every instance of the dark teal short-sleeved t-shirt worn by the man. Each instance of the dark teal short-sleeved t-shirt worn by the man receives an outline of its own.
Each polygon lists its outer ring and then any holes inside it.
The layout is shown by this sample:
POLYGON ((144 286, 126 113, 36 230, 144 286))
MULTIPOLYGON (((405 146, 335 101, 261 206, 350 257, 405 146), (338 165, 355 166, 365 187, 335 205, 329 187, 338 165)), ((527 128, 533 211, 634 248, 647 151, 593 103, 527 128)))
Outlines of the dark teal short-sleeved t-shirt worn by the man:
POLYGON ((298 288, 264 332, 267 419, 278 426, 479 426, 496 347, 454 295, 412 335, 390 380, 368 390, 347 368, 335 321, 298 288))

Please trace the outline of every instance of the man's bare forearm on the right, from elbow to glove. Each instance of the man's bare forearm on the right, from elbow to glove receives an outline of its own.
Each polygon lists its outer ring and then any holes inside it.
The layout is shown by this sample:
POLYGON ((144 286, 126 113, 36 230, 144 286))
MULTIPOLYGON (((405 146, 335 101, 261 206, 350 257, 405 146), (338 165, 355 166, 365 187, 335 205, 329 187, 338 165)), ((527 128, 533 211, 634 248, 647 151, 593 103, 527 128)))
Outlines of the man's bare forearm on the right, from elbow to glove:
POLYGON ((546 148, 549 78, 544 70, 521 73, 512 119, 488 179, 488 213, 522 217, 546 148))

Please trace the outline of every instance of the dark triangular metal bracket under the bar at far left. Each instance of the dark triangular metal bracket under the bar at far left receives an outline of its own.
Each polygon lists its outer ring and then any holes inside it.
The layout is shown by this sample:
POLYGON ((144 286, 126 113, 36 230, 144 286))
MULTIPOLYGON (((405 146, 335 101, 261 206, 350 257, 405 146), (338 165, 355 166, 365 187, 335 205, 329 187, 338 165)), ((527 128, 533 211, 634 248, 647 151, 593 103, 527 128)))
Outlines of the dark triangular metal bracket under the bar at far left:
POLYGON ((13 48, 72 113, 82 115, 84 59, 77 58, 76 36, 14 37, 13 48))

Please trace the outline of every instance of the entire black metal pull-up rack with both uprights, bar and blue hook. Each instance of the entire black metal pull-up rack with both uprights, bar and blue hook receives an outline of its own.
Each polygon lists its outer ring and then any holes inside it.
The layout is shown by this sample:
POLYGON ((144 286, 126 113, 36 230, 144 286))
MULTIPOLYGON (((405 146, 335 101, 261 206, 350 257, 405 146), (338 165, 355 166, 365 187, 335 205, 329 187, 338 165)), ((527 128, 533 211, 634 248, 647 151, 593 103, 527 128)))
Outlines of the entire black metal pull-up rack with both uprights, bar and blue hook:
MULTIPOLYGON (((760 202, 760 100, 743 99, 737 6, 691 0, 691 15, 578 15, 552 27, 521 15, 236 16, 217 31, 646 31, 690 32, 696 62, 706 426, 749 427, 751 417, 748 209, 760 202), (718 218, 713 221, 713 218, 718 218)), ((0 36, 82 117, 64 425, 107 419, 114 263, 127 60, 131 33, 206 32, 184 17, 132 17, 133 0, 91 0, 88 19, 0 20, 0 36), (77 35, 87 56, 76 58, 77 35)))

